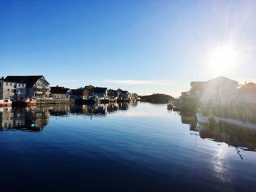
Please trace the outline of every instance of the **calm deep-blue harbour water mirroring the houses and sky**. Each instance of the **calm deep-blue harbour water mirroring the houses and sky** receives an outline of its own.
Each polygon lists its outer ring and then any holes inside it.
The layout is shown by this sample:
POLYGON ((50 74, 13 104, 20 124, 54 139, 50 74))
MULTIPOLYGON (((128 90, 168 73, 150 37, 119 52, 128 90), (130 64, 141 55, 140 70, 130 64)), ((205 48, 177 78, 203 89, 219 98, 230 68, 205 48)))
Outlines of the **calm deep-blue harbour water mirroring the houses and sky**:
POLYGON ((256 191, 256 131, 165 104, 0 108, 0 125, 0 191, 256 191))

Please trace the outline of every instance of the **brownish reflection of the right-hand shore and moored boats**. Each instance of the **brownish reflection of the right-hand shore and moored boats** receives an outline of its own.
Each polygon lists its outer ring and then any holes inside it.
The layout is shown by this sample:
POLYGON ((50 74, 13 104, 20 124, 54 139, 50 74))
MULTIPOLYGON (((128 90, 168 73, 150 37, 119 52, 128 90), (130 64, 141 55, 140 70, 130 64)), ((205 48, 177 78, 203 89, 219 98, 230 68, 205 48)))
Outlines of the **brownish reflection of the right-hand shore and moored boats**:
MULTIPOLYGON (((198 131, 202 139, 213 139, 215 142, 225 142, 233 147, 255 151, 256 130, 230 126, 225 123, 214 126, 201 126, 197 124, 195 112, 181 111, 181 122, 189 124, 191 131, 198 131)), ((238 155, 240 155, 240 151, 238 155)), ((242 158, 242 157, 241 157, 242 158)))

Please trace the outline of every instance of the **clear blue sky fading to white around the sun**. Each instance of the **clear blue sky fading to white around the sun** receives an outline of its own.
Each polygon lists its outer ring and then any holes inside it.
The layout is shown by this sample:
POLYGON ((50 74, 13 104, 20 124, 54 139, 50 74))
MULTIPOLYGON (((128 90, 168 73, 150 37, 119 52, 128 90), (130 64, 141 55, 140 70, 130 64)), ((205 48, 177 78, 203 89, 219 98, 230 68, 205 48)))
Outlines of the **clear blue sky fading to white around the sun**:
POLYGON ((255 61, 256 1, 0 0, 4 77, 178 96, 219 75, 256 82, 255 61))

